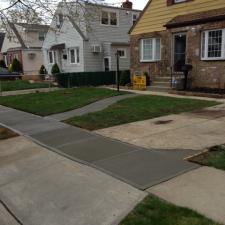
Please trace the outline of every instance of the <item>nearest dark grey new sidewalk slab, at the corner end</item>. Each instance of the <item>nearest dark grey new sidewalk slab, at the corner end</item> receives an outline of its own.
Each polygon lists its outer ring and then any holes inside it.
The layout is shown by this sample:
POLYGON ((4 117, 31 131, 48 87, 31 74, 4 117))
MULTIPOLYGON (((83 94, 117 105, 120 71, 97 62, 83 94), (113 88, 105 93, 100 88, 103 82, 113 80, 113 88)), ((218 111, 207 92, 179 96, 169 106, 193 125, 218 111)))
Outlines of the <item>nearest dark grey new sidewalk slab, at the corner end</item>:
POLYGON ((142 190, 198 167, 167 156, 168 152, 139 150, 94 165, 142 190))

